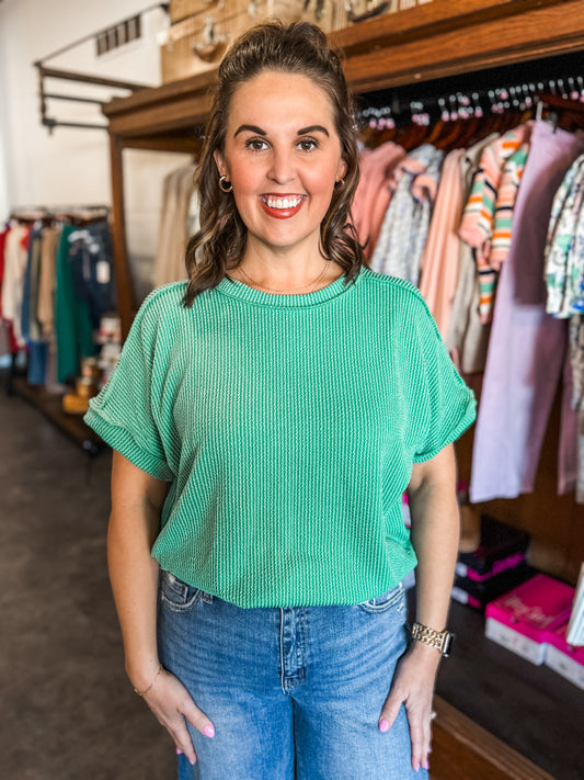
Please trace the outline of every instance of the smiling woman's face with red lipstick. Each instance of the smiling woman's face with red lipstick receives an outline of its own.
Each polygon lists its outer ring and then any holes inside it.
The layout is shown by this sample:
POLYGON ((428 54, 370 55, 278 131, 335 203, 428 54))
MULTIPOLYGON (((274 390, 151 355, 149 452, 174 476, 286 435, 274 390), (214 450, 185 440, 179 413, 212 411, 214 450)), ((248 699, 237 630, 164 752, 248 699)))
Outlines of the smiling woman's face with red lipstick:
POLYGON ((233 185, 248 253, 268 248, 318 257, 320 224, 346 171, 333 108, 320 87, 273 70, 243 83, 231 100, 225 154, 216 151, 215 161, 233 185))

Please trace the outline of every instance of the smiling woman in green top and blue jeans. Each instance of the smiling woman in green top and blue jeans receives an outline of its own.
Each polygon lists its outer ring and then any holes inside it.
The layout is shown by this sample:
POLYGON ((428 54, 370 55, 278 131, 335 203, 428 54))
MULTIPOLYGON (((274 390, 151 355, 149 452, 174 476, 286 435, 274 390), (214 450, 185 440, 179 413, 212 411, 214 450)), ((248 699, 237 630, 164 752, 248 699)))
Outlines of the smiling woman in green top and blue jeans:
POLYGON ((88 414, 114 449, 126 670, 181 778, 427 769, 451 442, 474 403, 417 292, 364 267, 357 179, 324 35, 244 34, 219 69, 188 283, 148 297, 88 414), (409 644, 400 581, 416 565, 409 644))

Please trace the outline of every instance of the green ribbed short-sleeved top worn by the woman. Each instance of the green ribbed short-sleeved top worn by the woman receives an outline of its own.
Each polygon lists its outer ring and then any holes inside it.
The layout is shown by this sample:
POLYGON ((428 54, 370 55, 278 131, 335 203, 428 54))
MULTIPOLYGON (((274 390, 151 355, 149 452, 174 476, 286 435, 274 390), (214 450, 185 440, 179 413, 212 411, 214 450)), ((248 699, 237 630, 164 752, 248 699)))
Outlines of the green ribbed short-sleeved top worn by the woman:
POLYGON ((240 607, 358 603, 416 563, 412 464, 474 419, 419 292, 362 269, 306 295, 224 279, 141 306, 87 422, 172 482, 152 555, 240 607))

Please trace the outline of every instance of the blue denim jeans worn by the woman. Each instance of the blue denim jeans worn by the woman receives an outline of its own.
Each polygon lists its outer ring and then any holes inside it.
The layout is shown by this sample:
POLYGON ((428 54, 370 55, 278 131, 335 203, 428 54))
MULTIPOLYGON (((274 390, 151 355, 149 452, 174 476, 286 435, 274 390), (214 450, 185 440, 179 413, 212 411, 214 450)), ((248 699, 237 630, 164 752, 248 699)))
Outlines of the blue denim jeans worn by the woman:
POLYGON ((378 720, 406 648, 401 586, 354 607, 241 609, 162 572, 159 653, 213 721, 179 780, 406 780, 402 706, 378 720))

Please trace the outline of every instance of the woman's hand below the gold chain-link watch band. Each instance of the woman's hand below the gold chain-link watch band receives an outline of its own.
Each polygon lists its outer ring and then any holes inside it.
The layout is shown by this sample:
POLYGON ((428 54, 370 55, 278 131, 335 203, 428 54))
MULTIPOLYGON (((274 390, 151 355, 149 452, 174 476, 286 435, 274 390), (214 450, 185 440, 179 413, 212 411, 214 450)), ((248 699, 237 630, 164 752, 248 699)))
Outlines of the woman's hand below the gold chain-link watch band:
POLYGON ((399 663, 386 699, 379 731, 387 732, 402 703, 405 705, 412 739, 412 767, 415 771, 428 768, 432 742, 432 698, 440 655, 434 647, 414 642, 399 663))

